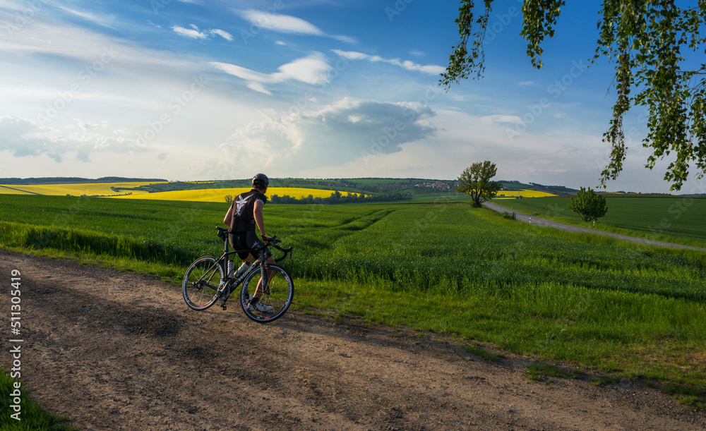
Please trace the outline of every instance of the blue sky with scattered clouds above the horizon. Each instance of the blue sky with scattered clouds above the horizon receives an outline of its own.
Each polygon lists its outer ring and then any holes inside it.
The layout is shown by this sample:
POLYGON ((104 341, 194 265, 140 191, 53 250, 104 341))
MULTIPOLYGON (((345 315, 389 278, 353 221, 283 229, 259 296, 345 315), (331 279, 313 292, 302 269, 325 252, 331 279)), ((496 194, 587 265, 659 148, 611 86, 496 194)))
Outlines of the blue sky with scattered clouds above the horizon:
MULTIPOLYGON (((496 0, 485 78, 445 92, 455 1, 0 0, 0 177, 455 179, 488 159, 597 186, 613 69, 587 67, 599 2, 568 3, 537 71, 520 2, 496 0)), ((609 190, 669 190, 641 114, 609 190)))

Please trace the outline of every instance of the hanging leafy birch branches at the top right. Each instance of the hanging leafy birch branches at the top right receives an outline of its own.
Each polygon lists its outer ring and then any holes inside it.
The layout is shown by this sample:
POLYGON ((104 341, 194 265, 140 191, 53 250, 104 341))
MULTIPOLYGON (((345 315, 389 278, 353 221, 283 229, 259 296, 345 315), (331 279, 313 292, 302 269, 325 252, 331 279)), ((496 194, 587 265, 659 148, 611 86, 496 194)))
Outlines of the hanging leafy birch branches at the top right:
MULTIPOLYGON (((685 70, 681 51, 693 51, 702 59, 706 36, 700 30, 706 23, 706 1, 682 8, 677 0, 604 0, 599 20, 598 46, 591 63, 600 57, 615 62, 614 85, 617 99, 613 118, 603 135, 612 151, 602 171, 601 184, 614 180, 623 170, 626 158, 623 117, 631 107, 645 107, 647 136, 642 146, 650 148, 645 167, 652 169, 657 159, 671 157, 664 179, 671 190, 680 190, 688 178, 690 163, 698 169, 695 178, 706 171, 706 64, 685 70), (633 94, 637 92, 637 94, 633 94)), ((696 2, 693 2, 696 3, 696 2)), ((458 25, 460 42, 453 47, 441 85, 466 79, 484 71, 484 37, 493 0, 484 0, 484 11, 474 16, 474 1, 462 0, 458 25), (469 38, 471 45, 468 47, 469 38)), ((535 68, 542 67, 544 37, 554 37, 554 26, 563 0, 525 0, 522 4, 522 31, 527 40, 527 56, 535 68)))

